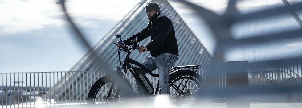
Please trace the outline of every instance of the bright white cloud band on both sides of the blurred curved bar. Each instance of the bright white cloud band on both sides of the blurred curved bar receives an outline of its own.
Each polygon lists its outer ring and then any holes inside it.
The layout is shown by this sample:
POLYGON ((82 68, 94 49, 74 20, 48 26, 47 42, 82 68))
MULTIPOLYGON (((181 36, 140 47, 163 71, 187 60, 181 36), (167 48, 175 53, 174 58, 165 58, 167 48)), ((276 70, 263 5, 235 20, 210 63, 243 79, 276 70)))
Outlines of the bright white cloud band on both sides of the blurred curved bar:
MULTIPOLYGON (((5 0, 0 4, 0 32, 20 33, 41 29, 47 25, 65 25, 61 5, 55 0, 5 0)), ((67 1, 71 18, 80 21, 88 18, 119 21, 124 18, 140 0, 75 0, 67 1), (116 4, 116 5, 110 5, 116 4), (121 6, 121 4, 123 4, 121 6), (108 6, 107 6, 108 5, 108 6)), ((82 23, 84 25, 85 23, 82 23)))

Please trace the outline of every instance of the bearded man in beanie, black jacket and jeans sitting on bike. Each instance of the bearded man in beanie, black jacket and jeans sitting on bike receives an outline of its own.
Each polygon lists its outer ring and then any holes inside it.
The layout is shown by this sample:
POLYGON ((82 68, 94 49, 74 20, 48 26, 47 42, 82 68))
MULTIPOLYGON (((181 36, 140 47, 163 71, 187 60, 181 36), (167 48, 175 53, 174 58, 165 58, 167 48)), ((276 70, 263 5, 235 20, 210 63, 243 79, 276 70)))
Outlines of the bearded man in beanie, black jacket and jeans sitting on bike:
MULTIPOLYGON (((143 64, 150 71, 158 69, 159 86, 161 94, 170 94, 169 75, 173 65, 178 59, 178 45, 172 21, 166 17, 156 2, 150 2, 146 6, 149 23, 146 28, 130 38, 124 40, 124 44, 132 45, 131 40, 137 37, 138 42, 151 36, 151 42, 146 46, 140 46, 138 53, 149 51, 151 56, 147 57, 143 64)), ((119 43, 119 41, 118 41, 119 43)), ((138 87, 139 88, 139 87, 138 87)), ((138 89, 140 94, 140 89, 138 89)))

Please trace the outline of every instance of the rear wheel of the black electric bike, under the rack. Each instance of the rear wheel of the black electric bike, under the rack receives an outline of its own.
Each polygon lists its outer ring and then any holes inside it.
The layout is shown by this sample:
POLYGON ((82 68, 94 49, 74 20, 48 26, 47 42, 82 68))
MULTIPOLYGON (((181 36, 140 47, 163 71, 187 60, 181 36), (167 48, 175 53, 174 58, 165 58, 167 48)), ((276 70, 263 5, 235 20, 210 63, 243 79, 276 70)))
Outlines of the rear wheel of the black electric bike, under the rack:
POLYGON ((177 106, 190 104, 198 97, 203 78, 197 73, 191 75, 191 72, 181 72, 169 79, 170 100, 173 104, 177 106))

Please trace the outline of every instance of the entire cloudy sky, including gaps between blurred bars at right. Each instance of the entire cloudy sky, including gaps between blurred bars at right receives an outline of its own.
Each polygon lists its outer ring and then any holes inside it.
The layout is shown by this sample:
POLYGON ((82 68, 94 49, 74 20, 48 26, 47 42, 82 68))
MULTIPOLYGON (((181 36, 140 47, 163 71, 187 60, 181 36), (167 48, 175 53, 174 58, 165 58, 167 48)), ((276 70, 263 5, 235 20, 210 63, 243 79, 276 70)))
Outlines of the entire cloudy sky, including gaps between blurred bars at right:
MULTIPOLYGON (((93 46, 140 1, 67 0, 66 6, 72 19, 89 44, 93 46)), ((228 3, 227 0, 188 1, 203 6, 218 15, 225 12, 228 3)), ((291 1, 290 3, 299 2, 299 0, 291 1)), ((240 2, 237 8, 240 14, 245 14, 263 10, 263 6, 277 6, 275 5, 277 3, 280 4, 282 1, 250 0, 248 3, 240 2)), ((215 39, 205 22, 196 20, 194 11, 187 10, 175 0, 171 0, 171 4, 200 36, 200 40, 208 50, 213 52, 215 39)), ((69 71, 84 56, 87 49, 82 48, 74 38, 75 35, 70 31, 60 6, 55 0, 0 0, 0 72, 69 71)), ((266 20, 268 19, 234 25, 232 28, 234 38, 255 36, 257 33, 258 35, 276 33, 280 30, 284 31, 285 28, 299 29, 299 25, 290 15, 270 19, 268 22, 266 20), (265 24, 259 26, 259 23, 265 24), (243 29, 238 31, 238 28, 243 29)), ((240 52, 240 57, 230 56, 228 59, 252 61, 271 58, 272 55, 286 57, 293 52, 296 52, 294 55, 302 54, 302 50, 300 50, 302 39, 293 40, 279 42, 279 44, 265 44, 264 46, 267 47, 259 48, 261 45, 255 45, 248 48, 252 50, 234 49, 227 54, 233 55, 240 52), (279 51, 280 48, 287 49, 288 53, 282 52, 284 50, 279 51), (271 51, 267 51, 267 49, 271 49, 271 51), (259 53, 263 50, 265 53, 259 53)))

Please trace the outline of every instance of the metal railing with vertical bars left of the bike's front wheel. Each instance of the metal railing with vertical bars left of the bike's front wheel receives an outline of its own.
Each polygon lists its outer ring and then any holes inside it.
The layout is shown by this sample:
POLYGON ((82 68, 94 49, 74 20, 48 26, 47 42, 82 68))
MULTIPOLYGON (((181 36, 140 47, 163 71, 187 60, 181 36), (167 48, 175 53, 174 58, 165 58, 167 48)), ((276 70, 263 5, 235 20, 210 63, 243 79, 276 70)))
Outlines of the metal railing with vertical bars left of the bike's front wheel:
POLYGON ((83 96, 105 74, 98 71, 0 73, 0 105, 33 107, 38 105, 37 101, 43 106, 85 104, 83 96))

